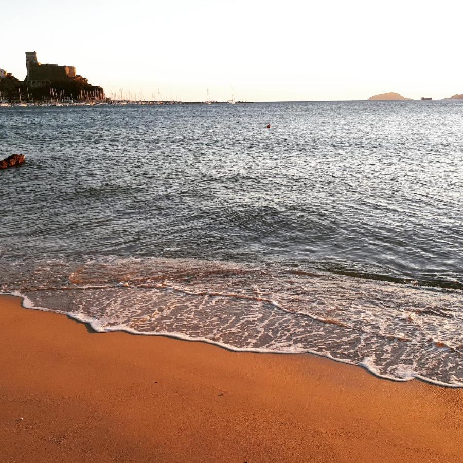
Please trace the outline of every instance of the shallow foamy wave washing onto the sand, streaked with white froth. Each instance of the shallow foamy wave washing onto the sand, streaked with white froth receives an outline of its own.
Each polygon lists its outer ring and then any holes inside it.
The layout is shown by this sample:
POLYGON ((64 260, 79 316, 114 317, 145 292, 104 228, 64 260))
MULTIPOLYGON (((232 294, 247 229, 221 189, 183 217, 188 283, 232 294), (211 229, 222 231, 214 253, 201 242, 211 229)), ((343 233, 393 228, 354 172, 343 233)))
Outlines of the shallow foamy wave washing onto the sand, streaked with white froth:
POLYGON ((2 291, 99 332, 168 335, 237 351, 309 352, 396 381, 463 387, 459 290, 163 258, 47 260, 21 281, 2 291))

